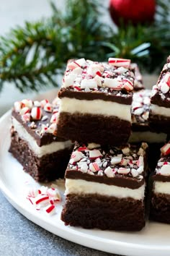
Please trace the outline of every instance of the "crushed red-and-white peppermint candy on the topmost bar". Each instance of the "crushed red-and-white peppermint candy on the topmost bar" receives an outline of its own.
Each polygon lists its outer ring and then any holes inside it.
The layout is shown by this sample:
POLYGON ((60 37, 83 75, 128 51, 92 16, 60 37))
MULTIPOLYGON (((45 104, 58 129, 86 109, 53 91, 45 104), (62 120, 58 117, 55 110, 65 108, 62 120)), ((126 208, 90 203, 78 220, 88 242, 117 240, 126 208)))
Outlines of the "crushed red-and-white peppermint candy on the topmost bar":
POLYGON ((128 94, 133 91, 134 74, 129 69, 130 60, 109 58, 107 63, 85 59, 68 62, 63 77, 63 88, 74 91, 118 90, 128 94))

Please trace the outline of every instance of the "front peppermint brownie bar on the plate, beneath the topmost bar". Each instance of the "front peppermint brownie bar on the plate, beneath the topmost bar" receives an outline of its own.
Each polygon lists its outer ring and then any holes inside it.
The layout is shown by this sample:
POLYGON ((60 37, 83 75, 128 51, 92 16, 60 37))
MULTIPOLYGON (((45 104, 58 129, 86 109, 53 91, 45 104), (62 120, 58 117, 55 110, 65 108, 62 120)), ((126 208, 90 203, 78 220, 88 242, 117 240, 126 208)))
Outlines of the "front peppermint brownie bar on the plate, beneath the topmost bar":
POLYGON ((148 145, 76 144, 66 170, 61 220, 85 229, 139 231, 145 226, 148 145))

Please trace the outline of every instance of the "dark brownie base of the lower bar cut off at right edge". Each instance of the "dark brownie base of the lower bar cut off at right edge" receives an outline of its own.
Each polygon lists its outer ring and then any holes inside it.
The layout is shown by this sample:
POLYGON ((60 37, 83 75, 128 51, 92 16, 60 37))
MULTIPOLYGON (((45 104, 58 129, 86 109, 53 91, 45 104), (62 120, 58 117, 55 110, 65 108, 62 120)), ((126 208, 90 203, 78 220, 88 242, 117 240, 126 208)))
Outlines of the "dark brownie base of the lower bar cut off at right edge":
POLYGON ((170 223, 170 195, 153 194, 151 197, 150 219, 170 223))

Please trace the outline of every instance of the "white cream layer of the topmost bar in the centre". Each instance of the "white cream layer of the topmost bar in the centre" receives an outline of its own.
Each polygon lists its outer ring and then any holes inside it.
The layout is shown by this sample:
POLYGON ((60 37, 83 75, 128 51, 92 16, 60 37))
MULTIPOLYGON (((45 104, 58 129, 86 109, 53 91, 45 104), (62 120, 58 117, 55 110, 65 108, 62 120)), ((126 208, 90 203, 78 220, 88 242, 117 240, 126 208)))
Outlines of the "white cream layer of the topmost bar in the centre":
POLYGON ((61 98, 61 112, 74 114, 99 114, 104 116, 117 116, 118 118, 130 121, 130 105, 120 104, 112 101, 102 100, 77 100, 76 98, 61 98))

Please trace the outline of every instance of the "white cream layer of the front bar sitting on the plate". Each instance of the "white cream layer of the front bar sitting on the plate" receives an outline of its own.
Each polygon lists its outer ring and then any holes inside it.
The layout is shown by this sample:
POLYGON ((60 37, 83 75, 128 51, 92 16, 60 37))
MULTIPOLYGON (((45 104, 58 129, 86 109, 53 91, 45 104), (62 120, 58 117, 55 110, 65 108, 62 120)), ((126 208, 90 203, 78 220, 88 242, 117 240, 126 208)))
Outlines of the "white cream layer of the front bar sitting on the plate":
POLYGON ((106 195, 108 197, 131 197, 135 200, 143 200, 144 192, 144 184, 138 189, 130 189, 128 187, 117 187, 114 185, 101 184, 97 182, 86 182, 82 179, 66 179, 66 195, 98 194, 106 195))

